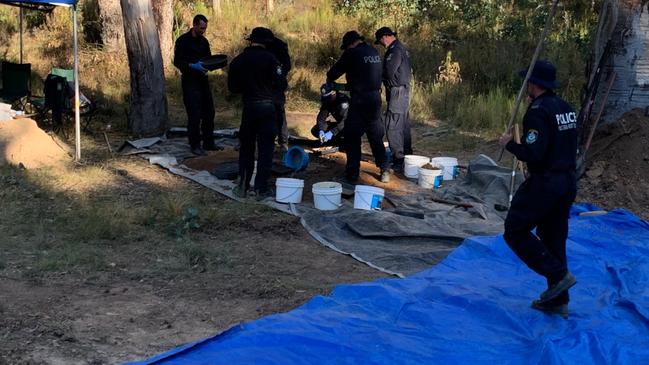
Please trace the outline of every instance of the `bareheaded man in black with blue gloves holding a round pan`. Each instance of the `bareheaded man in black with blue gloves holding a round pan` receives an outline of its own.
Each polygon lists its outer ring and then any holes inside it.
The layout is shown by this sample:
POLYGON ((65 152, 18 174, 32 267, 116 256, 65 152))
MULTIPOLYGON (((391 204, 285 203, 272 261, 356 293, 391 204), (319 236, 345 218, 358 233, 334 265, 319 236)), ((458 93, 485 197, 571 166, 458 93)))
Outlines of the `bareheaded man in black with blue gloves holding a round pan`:
POLYGON ((210 43, 204 37, 207 18, 196 15, 189 32, 176 40, 174 65, 180 70, 183 102, 187 111, 189 146, 195 155, 216 150, 214 145, 214 101, 207 80, 207 69, 200 59, 210 56, 210 43), (201 141, 203 145, 201 146, 201 141))

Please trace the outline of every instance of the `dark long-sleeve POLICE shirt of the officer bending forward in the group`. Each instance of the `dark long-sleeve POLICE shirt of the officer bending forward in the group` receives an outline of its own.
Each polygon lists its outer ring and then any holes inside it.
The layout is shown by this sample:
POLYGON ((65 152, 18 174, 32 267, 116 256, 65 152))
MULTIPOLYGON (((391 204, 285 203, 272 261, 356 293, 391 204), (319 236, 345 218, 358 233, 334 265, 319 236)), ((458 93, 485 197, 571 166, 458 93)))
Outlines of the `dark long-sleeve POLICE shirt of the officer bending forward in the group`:
POLYGON ((381 90, 382 72, 379 52, 362 42, 343 52, 340 59, 327 72, 327 81, 336 81, 345 74, 347 90, 350 91, 353 101, 355 94, 381 90))

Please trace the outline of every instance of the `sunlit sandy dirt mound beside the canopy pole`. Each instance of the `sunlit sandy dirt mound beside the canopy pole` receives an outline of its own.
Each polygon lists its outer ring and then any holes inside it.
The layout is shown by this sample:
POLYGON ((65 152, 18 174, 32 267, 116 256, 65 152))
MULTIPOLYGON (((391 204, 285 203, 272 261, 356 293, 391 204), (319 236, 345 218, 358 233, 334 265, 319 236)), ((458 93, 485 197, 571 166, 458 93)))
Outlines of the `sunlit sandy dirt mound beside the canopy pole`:
POLYGON ((0 166, 50 166, 68 154, 31 119, 0 121, 0 166))

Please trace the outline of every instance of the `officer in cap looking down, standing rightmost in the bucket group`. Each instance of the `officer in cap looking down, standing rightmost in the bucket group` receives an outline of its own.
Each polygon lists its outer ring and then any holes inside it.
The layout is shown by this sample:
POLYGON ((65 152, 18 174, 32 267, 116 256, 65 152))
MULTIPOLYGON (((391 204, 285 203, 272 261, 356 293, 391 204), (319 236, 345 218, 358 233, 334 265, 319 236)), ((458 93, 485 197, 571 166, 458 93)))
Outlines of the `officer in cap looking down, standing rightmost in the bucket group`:
POLYGON ((392 167, 395 171, 403 171, 405 155, 412 154, 412 139, 410 136, 410 80, 412 67, 410 54, 406 47, 397 39, 397 33, 388 27, 379 28, 375 44, 386 48, 383 58, 383 85, 388 108, 385 112, 385 131, 394 159, 392 167))

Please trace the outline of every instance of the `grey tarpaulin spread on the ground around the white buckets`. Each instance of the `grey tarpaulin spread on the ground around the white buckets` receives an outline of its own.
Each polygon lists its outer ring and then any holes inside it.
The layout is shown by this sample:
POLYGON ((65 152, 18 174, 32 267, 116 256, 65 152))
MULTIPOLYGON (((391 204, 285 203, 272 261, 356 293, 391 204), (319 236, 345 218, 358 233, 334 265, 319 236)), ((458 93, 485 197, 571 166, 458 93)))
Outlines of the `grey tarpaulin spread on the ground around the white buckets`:
MULTIPOLYGON (((232 138, 216 139, 216 144, 222 147, 232 147, 236 143, 232 138)), ((152 164, 241 200, 232 193, 234 181, 184 164, 188 158, 195 157, 184 139, 128 141, 120 152, 141 154, 152 164)), ((354 209, 353 203, 347 200, 343 200, 339 209, 327 212, 315 209, 306 201, 293 207, 272 199, 263 203, 299 216, 304 228, 321 244, 383 272, 404 277, 438 263, 467 237, 502 232, 506 213, 496 211, 494 205, 507 204, 510 180, 511 169, 499 167, 490 158, 480 155, 471 161, 461 181, 446 181, 435 193, 420 189, 416 184, 411 184, 413 190, 409 194, 402 192, 397 196, 388 191, 386 195, 396 209, 363 211, 354 209), (475 207, 466 209, 441 204, 431 200, 434 196, 469 202, 475 207), (399 214, 403 211, 422 217, 399 214)), ((519 176, 517 184, 520 180, 519 176)))

